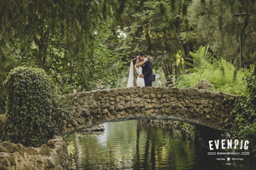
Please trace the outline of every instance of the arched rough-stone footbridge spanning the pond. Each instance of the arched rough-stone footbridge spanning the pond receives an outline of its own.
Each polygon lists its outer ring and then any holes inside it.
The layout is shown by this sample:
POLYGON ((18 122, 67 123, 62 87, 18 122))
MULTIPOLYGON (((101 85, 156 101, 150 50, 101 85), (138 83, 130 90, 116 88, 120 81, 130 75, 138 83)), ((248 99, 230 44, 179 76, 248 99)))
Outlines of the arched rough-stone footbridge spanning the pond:
POLYGON ((129 87, 67 95, 72 117, 64 134, 111 121, 166 119, 224 130, 237 96, 174 87, 129 87))

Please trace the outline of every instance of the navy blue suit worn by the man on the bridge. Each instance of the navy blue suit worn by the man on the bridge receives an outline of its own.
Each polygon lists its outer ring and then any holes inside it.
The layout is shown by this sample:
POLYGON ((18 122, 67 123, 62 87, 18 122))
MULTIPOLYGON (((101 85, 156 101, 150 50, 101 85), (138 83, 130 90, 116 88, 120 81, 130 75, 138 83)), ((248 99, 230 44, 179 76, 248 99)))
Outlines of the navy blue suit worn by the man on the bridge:
POLYGON ((152 82, 155 81, 155 75, 153 74, 150 60, 147 60, 146 63, 142 65, 142 74, 144 75, 145 86, 152 86, 152 82))

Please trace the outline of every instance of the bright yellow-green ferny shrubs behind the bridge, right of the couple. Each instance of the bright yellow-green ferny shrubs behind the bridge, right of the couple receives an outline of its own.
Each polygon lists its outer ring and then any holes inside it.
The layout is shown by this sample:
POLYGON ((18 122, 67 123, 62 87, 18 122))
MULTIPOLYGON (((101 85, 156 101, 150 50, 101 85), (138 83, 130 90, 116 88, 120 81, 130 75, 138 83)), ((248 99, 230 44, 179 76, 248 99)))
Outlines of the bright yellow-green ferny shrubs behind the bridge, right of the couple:
POLYGON ((196 53, 191 53, 195 58, 194 68, 189 69, 188 74, 180 76, 174 86, 179 88, 195 87, 203 78, 211 82, 213 91, 222 91, 228 94, 244 94, 244 72, 237 70, 231 63, 226 60, 216 60, 205 54, 206 48, 200 47, 196 53), (204 58, 202 57, 204 56, 204 58))

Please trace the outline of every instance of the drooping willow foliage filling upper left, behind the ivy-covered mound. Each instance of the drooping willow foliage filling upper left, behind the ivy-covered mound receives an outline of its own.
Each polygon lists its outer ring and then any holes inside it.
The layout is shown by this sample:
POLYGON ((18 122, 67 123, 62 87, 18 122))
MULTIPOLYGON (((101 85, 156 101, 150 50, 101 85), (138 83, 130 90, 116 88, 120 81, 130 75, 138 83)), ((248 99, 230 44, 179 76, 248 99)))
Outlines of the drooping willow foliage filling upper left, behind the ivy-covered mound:
POLYGON ((74 85, 77 91, 114 87, 120 55, 101 41, 111 34, 110 24, 119 24, 121 4, 124 1, 0 1, 0 114, 5 112, 3 82, 17 66, 44 69, 62 94, 74 85))

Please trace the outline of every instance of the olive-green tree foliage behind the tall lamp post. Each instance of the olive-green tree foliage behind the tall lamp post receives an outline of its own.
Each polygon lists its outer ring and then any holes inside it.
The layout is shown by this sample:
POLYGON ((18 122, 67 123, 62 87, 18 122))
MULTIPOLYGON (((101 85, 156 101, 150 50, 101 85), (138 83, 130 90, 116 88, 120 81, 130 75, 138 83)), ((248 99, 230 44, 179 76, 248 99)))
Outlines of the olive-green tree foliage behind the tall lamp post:
POLYGON ((201 0, 193 0, 188 6, 188 22, 195 26, 192 32, 199 37, 197 44, 209 44, 212 54, 239 66, 239 27, 236 18, 232 17, 237 12, 247 13, 241 30, 242 53, 248 68, 255 61, 252 57, 256 50, 255 1, 205 0, 205 5, 202 5, 201 0))

